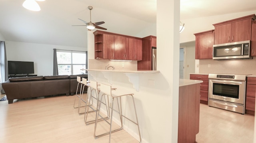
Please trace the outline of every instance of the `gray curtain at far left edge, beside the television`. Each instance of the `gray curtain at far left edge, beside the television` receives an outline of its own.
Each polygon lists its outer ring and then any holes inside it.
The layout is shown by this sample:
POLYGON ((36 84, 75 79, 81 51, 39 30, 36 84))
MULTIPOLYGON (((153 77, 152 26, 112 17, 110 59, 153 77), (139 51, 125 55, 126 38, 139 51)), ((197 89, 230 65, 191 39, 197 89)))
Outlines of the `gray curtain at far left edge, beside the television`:
POLYGON ((6 59, 6 48, 4 41, 0 41, 0 72, 1 72, 1 93, 5 93, 2 88, 2 82, 8 80, 8 67, 6 59))

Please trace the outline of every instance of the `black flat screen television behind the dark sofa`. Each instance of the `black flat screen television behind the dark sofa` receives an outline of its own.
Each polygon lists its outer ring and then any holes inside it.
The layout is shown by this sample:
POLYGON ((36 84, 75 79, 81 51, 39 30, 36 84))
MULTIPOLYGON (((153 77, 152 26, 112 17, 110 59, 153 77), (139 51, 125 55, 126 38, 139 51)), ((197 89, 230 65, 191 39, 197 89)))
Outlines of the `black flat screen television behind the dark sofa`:
POLYGON ((34 62, 8 61, 8 74, 33 74, 34 62))

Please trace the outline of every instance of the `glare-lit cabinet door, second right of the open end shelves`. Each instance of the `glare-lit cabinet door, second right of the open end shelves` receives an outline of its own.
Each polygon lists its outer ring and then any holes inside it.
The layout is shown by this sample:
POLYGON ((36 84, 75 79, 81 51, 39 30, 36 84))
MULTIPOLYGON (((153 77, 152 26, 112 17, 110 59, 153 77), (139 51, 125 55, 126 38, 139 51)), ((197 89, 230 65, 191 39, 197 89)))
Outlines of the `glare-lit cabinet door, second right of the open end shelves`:
POLYGON ((126 38, 114 36, 114 59, 125 60, 126 38))

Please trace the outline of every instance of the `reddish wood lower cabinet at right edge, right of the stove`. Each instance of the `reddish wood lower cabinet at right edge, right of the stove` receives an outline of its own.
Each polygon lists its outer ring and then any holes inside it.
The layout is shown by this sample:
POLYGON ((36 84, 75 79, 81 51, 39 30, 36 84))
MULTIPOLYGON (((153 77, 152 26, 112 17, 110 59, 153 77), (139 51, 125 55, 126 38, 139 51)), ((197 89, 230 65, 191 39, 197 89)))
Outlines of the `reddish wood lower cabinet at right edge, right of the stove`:
POLYGON ((255 114, 256 77, 247 77, 246 114, 255 114))

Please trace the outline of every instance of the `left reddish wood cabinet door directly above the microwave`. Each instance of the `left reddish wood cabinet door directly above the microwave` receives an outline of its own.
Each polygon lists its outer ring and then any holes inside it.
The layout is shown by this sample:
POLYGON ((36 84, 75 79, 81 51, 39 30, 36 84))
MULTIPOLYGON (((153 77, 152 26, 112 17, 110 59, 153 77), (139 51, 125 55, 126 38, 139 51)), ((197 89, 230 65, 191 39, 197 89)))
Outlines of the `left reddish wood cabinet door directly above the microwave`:
POLYGON ((231 24, 225 24, 215 27, 214 44, 230 43, 231 24))

